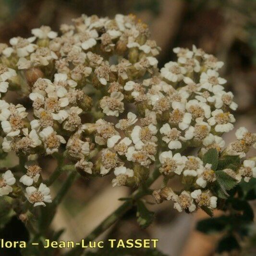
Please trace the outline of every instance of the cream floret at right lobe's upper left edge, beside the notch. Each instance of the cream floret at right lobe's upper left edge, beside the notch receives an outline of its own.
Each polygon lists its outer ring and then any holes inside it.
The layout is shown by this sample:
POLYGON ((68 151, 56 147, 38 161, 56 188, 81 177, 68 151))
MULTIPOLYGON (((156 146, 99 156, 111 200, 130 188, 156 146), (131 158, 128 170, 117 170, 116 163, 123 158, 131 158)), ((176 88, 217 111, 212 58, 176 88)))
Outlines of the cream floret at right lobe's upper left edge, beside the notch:
POLYGON ((177 62, 170 61, 161 68, 160 72, 165 79, 175 83, 183 79, 186 69, 177 62))

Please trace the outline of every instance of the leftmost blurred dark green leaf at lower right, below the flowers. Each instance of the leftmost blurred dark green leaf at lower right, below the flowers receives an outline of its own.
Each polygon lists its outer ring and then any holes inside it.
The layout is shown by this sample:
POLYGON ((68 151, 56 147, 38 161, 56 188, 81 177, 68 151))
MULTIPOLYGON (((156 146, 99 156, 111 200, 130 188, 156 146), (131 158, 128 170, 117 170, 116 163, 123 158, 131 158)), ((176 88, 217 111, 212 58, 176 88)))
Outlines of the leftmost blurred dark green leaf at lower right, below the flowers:
POLYGON ((221 232, 227 228, 230 221, 230 217, 224 215, 217 218, 202 219, 197 222, 196 230, 206 234, 221 232))

